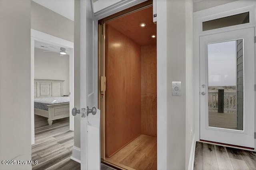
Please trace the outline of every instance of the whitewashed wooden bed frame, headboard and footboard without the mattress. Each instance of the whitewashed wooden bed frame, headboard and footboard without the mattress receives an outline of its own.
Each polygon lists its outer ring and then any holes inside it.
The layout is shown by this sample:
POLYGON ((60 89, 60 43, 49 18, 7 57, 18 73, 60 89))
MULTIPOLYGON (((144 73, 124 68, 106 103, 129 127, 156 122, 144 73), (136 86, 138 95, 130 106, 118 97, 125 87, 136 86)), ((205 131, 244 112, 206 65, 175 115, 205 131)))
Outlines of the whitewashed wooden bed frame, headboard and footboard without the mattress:
MULTIPOLYGON (((62 96, 62 83, 64 80, 34 79, 34 98, 60 97, 62 96)), ((34 108, 34 114, 48 118, 48 124, 52 121, 69 117, 69 102, 47 105, 48 111, 34 108)))

